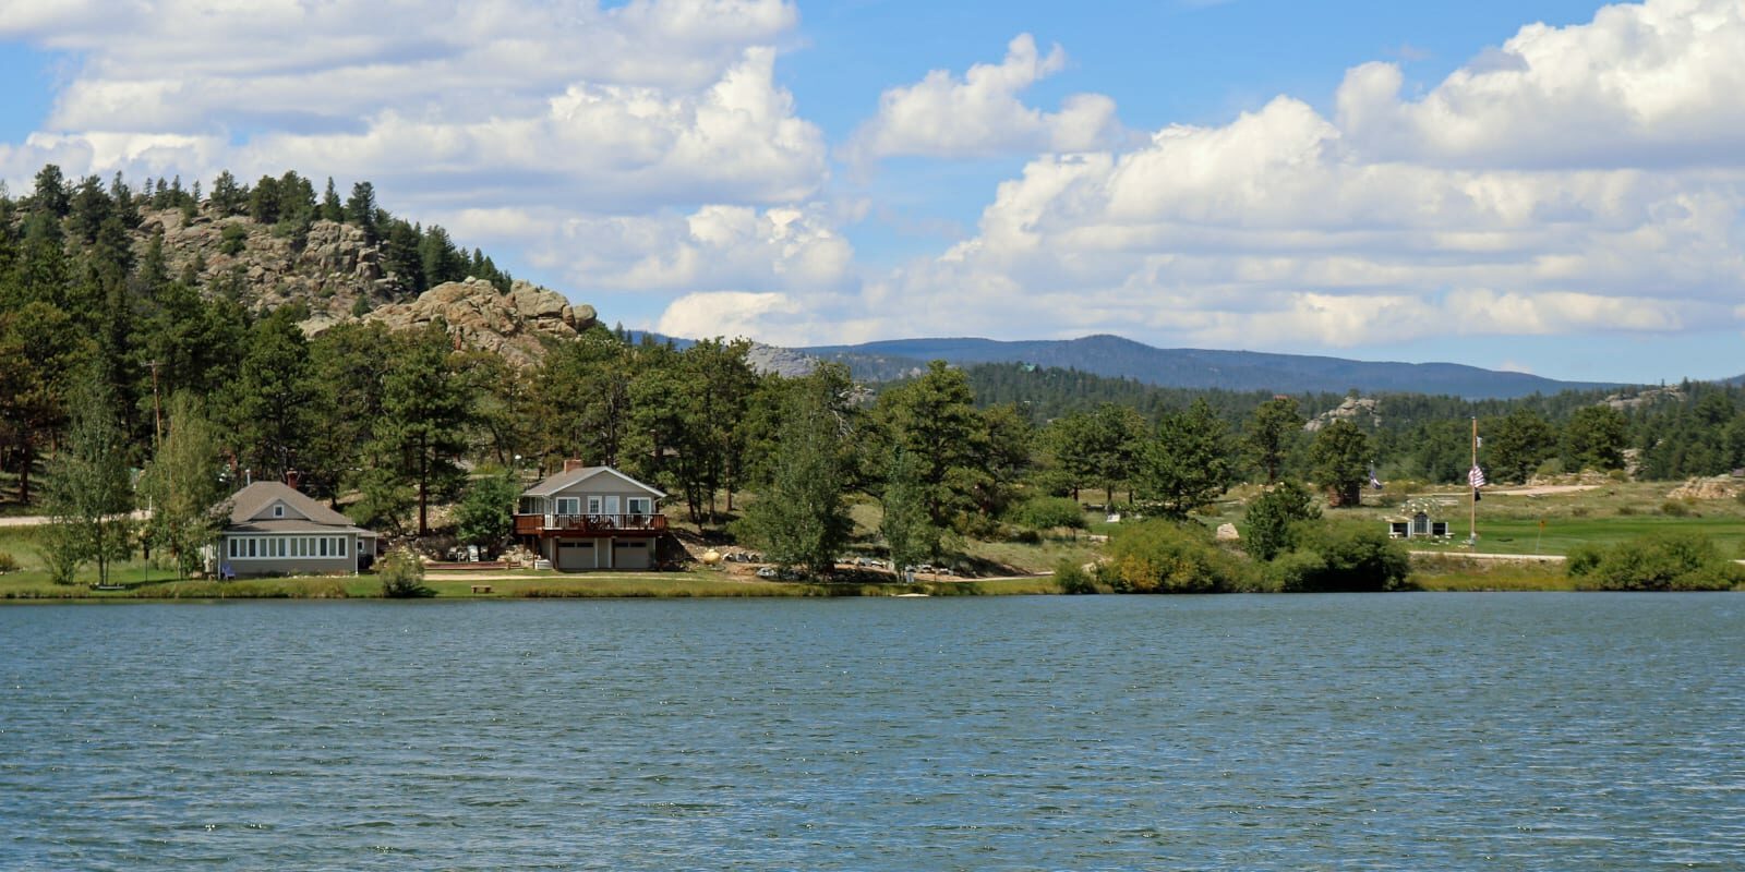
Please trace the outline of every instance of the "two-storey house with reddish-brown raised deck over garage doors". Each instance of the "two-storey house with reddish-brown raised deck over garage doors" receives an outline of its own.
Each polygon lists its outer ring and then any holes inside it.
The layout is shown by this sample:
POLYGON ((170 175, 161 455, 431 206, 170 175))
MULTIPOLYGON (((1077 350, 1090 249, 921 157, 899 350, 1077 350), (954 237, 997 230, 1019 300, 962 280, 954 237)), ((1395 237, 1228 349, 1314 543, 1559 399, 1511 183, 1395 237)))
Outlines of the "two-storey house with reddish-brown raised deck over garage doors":
POLYGON ((522 492, 515 537, 558 570, 654 569, 667 494, 609 466, 567 460, 522 492))

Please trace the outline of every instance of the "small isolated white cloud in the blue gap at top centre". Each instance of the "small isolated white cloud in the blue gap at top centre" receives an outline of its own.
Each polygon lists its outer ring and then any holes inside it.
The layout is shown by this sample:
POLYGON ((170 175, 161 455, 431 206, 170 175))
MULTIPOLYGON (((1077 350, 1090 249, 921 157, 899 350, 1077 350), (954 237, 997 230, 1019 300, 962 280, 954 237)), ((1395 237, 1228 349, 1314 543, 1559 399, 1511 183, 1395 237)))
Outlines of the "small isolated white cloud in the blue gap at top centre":
POLYGON ((934 70, 913 85, 879 96, 878 115, 845 148, 850 162, 866 164, 895 155, 986 157, 1005 152, 1082 152, 1101 148, 1119 133, 1115 101, 1103 94, 1073 94, 1059 112, 1026 106, 1021 94, 1061 72, 1066 52, 1054 45, 1037 51, 1021 33, 998 65, 975 65, 963 75, 934 70))

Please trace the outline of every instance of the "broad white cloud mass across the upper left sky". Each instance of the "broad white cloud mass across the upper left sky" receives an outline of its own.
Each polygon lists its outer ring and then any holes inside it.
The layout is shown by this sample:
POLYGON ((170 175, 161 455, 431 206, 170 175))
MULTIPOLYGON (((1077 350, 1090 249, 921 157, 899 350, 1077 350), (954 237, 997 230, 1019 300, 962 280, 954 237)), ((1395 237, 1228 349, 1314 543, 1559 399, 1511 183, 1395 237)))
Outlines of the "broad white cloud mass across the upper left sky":
POLYGON ((70 174, 295 167, 400 206, 790 202, 827 173, 773 77, 796 21, 782 0, 23 0, 0 38, 82 63, 0 173, 82 153, 70 174))

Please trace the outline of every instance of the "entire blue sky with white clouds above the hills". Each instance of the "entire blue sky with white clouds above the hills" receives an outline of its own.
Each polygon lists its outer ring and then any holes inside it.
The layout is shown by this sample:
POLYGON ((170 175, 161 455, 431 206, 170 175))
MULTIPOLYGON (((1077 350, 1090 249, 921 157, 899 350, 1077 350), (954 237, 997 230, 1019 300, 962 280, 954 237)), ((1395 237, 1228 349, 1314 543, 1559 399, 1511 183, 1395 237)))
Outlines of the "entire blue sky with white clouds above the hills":
POLYGON ((7 0, 0 180, 375 185, 606 323, 1745 373, 1745 0, 7 0))

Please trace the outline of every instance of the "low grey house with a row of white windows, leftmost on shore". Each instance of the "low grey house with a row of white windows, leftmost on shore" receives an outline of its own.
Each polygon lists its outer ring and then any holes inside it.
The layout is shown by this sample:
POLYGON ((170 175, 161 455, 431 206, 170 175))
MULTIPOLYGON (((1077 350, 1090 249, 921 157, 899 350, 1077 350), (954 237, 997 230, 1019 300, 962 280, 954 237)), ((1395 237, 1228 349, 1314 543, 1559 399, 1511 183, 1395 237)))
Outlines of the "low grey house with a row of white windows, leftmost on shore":
POLYGON ((255 481, 230 497, 218 532, 218 577, 356 574, 375 560, 377 535, 291 483, 255 481))

